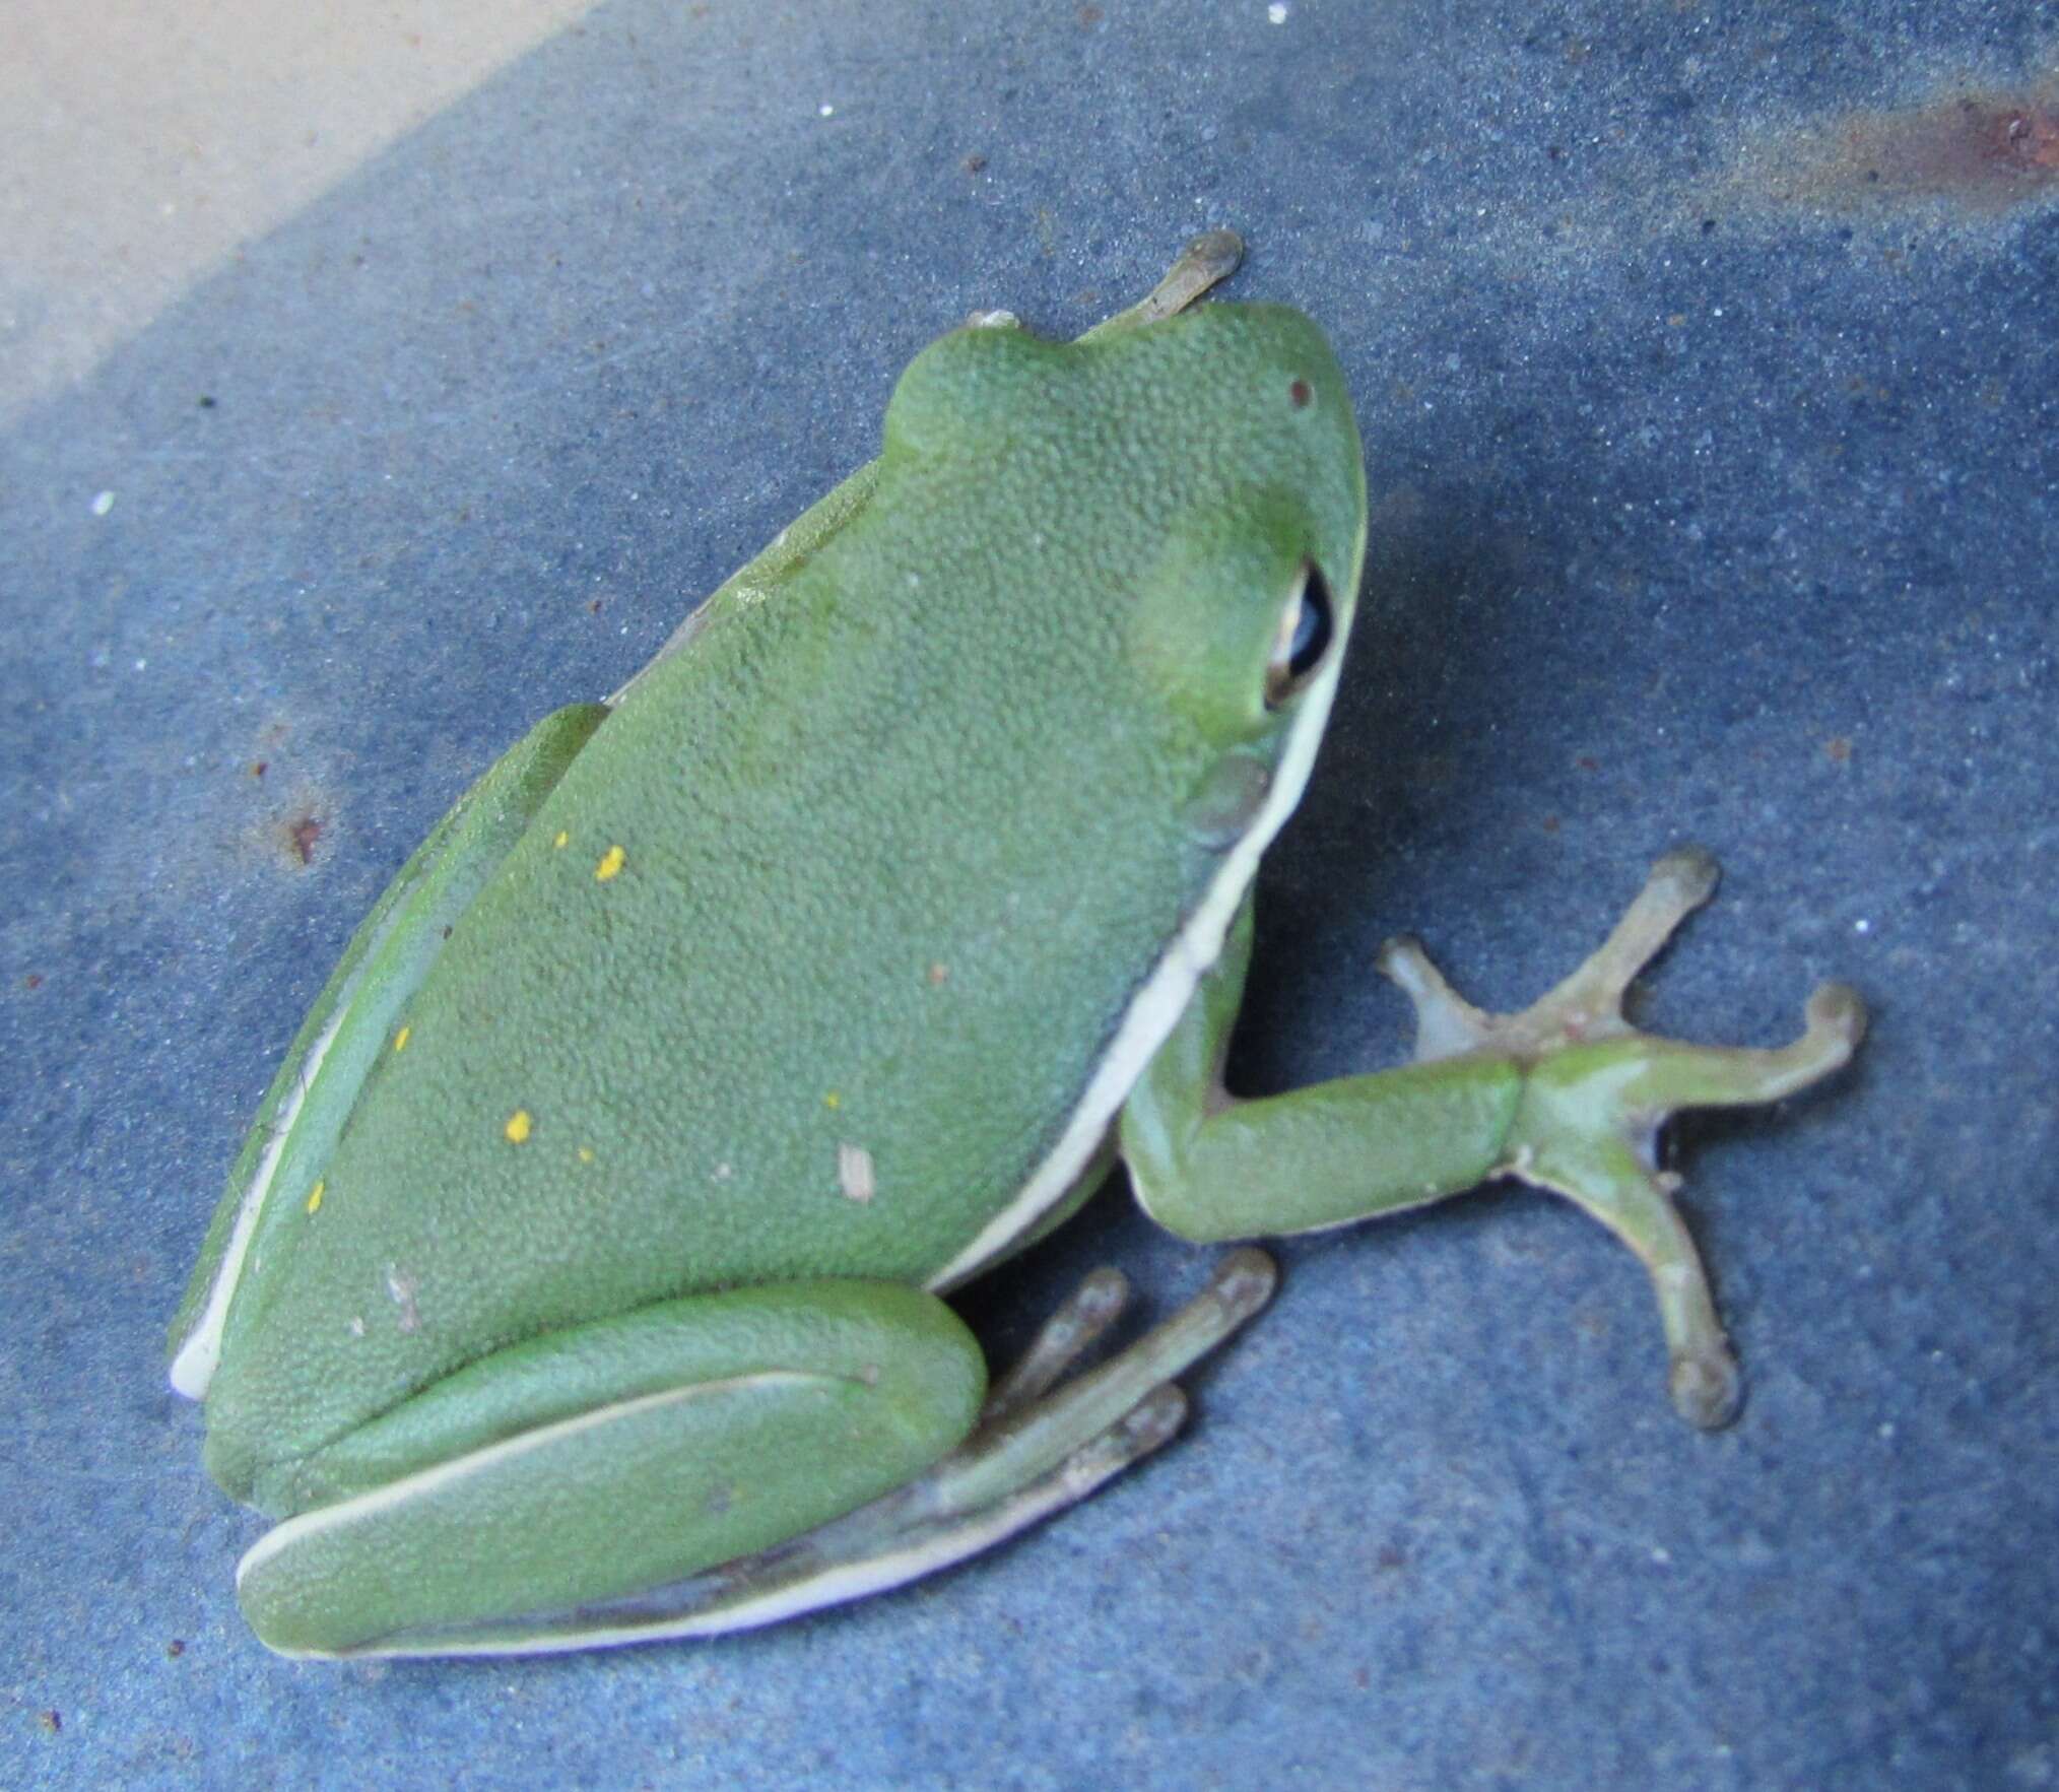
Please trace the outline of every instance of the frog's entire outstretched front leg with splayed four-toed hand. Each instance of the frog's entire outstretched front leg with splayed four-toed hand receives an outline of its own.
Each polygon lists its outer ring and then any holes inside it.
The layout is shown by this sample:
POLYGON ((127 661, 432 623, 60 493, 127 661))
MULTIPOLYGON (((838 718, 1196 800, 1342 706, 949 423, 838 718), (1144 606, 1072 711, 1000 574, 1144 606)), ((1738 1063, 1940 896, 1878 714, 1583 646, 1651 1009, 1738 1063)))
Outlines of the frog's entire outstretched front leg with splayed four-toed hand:
POLYGON ((1779 1100, 1843 1065, 1865 1030, 1859 997, 1824 985, 1804 1034, 1779 1050, 1697 1046, 1637 1032, 1622 993, 1715 890, 1715 861, 1668 853, 1594 958, 1515 1015, 1462 1001, 1412 941, 1388 972, 1417 1003, 1417 1059, 1256 1102, 1223 1092, 1221 1065, 1250 960, 1250 904, 1147 1067, 1122 1118, 1122 1156, 1145 1209, 1196 1240, 1342 1226, 1419 1207, 1491 1176, 1565 1195, 1651 1273, 1672 1397, 1697 1425, 1728 1423, 1738 1370, 1695 1242, 1657 1168, 1678 1108, 1779 1100))

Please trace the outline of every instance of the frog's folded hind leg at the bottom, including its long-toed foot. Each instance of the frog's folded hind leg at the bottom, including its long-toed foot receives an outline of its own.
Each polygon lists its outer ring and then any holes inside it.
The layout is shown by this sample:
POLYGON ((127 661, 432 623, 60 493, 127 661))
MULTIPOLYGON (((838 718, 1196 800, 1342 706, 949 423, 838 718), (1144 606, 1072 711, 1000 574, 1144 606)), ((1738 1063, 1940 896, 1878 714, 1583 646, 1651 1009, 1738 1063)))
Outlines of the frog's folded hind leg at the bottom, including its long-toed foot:
POLYGON ((1235 1252, 1188 1308, 1050 1392, 1122 1304, 1104 1271, 984 1409, 972 1335, 896 1283, 686 1296, 531 1339, 274 1469, 268 1504, 321 1504, 243 1557, 237 1592, 299 1656, 599 1648, 838 1605, 1157 1448, 1184 1411, 1172 1376, 1270 1285, 1235 1252))

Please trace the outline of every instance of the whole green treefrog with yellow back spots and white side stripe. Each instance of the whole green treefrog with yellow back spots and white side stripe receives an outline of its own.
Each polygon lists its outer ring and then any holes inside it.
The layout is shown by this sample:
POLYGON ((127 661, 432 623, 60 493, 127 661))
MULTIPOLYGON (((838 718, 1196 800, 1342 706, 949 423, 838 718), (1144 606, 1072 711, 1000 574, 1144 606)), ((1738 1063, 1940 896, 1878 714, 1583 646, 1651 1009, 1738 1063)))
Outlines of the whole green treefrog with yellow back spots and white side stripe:
POLYGON ((1841 1065, 1651 1038, 1629 978, 1713 884, 1660 861, 1517 1015, 1412 943, 1417 1063, 1266 1100, 1221 1067, 1252 873, 1345 663, 1365 470, 1279 305, 1198 239, 1071 344, 927 348, 879 459, 607 702, 558 711, 402 867, 294 1040, 171 1333, 237 1576, 296 1656, 768 1623, 1009 1537, 1161 1444, 1256 1250, 1077 1372, 1089 1277, 988 1386, 943 1294, 1120 1156, 1194 1240, 1522 1176, 1645 1263, 1672 1392, 1738 1376, 1653 1141, 1841 1065))

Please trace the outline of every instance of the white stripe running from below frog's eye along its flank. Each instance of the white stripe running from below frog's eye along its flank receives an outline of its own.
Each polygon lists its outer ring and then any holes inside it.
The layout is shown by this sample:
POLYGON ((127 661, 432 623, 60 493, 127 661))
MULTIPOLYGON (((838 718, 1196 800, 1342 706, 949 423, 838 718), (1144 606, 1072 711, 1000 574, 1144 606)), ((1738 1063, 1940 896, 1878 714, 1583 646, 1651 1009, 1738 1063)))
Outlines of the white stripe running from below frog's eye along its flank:
POLYGON ((1073 1118, 1058 1145, 1030 1176, 1021 1193, 986 1221, 978 1238, 924 1283, 931 1294, 943 1294, 974 1277, 984 1263, 1007 1250, 1015 1238, 1036 1226, 1052 1205, 1065 1199, 1065 1193, 1079 1180, 1081 1170, 1087 1168, 1087 1162, 1108 1135, 1108 1123, 1116 1116, 1128 1092, 1137 1088, 1137 1077, 1151 1063, 1151 1055, 1165 1044, 1167 1034, 1178 1026, 1202 974, 1221 956, 1223 935, 1229 931, 1229 923, 1235 919, 1237 904, 1252 886, 1252 877, 1258 875, 1258 857, 1272 845, 1272 836, 1285 826, 1295 803, 1301 801, 1307 774, 1316 764, 1316 748, 1322 742, 1322 725, 1330 717, 1330 700, 1336 696, 1336 680, 1342 665, 1340 643, 1330 665, 1301 696, 1301 707, 1289 723, 1287 752, 1281 754, 1279 772, 1272 779, 1272 789, 1266 793, 1264 807, 1244 832, 1244 838, 1223 857, 1215 882, 1194 910, 1194 919, 1174 939, 1172 947, 1159 960, 1157 970, 1145 980, 1145 987, 1130 999, 1128 1013, 1122 1015, 1122 1026, 1116 1028, 1116 1040, 1087 1083, 1087 1094, 1081 1096, 1079 1106, 1073 1110, 1073 1118))

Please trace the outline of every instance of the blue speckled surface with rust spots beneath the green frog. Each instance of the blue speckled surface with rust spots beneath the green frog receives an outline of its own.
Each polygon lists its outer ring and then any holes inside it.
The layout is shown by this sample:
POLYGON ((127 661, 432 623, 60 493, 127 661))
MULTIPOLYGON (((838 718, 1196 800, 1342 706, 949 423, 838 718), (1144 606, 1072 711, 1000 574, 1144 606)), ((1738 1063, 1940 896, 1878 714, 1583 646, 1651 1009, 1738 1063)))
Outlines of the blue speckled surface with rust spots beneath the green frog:
MULTIPOLYGON (((27 416, 0 1780, 2059 1782, 2055 41, 2030 0, 624 0, 27 416), (1328 325, 1377 523, 1240 1075, 1392 1061, 1396 927, 1522 1001, 1711 845, 1653 1022, 1876 1007, 1835 1085, 1682 1129, 1742 1421, 1672 1417, 1598 1228, 1485 1195, 1287 1246, 1186 1442, 943 1580, 270 1658, 159 1339, 352 923, 871 451, 924 340, 1075 332, 1207 222, 1328 325)), ((1110 1197, 968 1312, 1005 1355, 1102 1259, 1205 1269, 1110 1197)))

